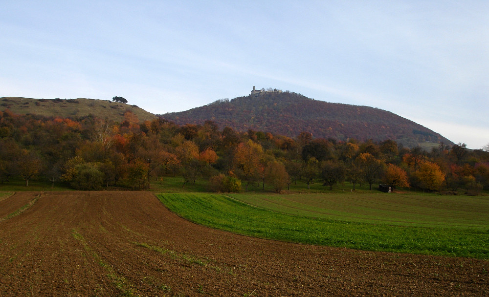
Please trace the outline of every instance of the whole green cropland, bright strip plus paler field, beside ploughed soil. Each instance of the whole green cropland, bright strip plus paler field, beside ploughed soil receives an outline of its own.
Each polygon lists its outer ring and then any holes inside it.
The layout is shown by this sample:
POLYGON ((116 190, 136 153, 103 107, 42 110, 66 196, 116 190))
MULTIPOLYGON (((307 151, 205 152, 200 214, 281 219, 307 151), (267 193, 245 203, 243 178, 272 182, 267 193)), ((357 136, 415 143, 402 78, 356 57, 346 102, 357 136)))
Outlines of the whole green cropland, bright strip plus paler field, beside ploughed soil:
POLYGON ((157 197, 186 219, 244 235, 369 251, 489 258, 485 198, 437 201, 398 195, 405 201, 396 203, 390 200, 396 197, 381 194, 162 193, 157 197))

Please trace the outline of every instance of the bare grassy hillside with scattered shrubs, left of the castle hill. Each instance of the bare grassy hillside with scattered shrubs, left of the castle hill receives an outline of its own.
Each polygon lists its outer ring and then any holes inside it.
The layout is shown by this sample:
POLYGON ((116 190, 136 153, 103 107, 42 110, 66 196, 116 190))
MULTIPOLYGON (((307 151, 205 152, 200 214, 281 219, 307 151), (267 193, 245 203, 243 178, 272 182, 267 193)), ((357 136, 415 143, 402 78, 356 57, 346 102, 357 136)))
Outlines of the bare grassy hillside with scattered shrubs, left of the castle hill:
POLYGON ((9 109, 16 114, 35 114, 46 117, 66 118, 94 115, 116 122, 124 121, 124 113, 132 111, 141 121, 153 120, 156 116, 137 106, 97 99, 31 99, 21 97, 0 98, 0 110, 9 109))

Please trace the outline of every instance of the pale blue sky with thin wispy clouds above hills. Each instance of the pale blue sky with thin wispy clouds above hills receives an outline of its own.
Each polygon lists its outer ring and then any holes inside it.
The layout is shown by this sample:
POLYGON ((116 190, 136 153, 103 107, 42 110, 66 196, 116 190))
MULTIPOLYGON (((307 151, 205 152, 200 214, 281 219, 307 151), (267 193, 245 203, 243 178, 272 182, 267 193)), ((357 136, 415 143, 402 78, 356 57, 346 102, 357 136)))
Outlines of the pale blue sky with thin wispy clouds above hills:
POLYGON ((0 2, 0 97, 163 114, 255 85, 489 144, 487 0, 0 2))

